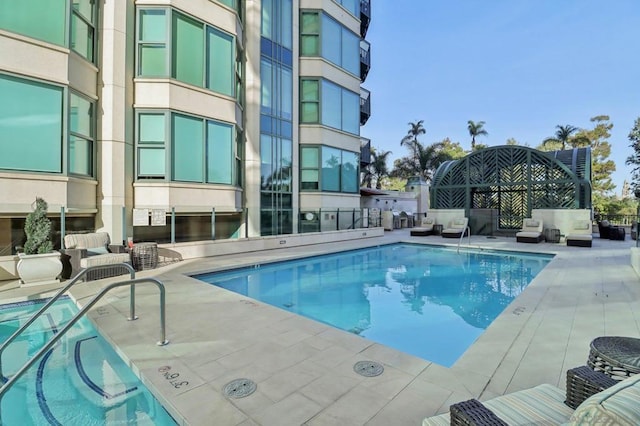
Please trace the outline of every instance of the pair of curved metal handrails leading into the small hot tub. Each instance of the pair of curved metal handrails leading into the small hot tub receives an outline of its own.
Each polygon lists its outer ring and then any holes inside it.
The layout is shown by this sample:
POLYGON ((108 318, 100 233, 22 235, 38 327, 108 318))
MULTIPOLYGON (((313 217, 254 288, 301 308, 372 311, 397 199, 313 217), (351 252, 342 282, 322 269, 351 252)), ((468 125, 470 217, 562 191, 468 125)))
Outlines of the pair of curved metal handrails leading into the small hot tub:
MULTIPOLYGON (((83 278, 87 272, 89 271, 94 271, 97 269, 105 269, 105 268, 113 268, 114 265, 97 265, 97 266, 91 266, 88 268, 83 269, 82 271, 80 271, 80 273, 78 273, 78 275, 76 275, 71 282, 69 282, 69 284, 67 284, 66 286, 64 286, 62 289, 60 289, 42 308, 40 308, 40 310, 38 312, 36 312, 31 318, 29 318, 29 320, 22 325, 22 327, 20 327, 15 333, 13 333, 3 344, 2 346, 0 346, 0 383, 5 381, 5 377, 2 373, 2 353, 4 352, 5 348, 7 346, 9 346, 9 344, 11 342, 13 342, 20 334, 22 334, 22 332, 24 330, 27 329, 27 327, 29 327, 31 324, 33 324, 33 322, 38 319, 56 300, 58 300, 60 298, 60 296, 62 296, 62 294, 64 294, 67 290, 69 290, 74 284, 76 284, 81 278, 83 278)), ((117 287, 123 287, 123 286, 130 286, 131 292, 130 292, 130 304, 129 304, 129 318, 127 318, 129 321, 133 321, 138 319, 138 317, 135 314, 135 286, 136 284, 142 284, 142 283, 153 283, 155 284, 158 289, 160 290, 160 340, 157 342, 158 346, 164 346, 166 344, 169 343, 169 341, 166 339, 166 333, 165 333, 165 290, 164 290, 164 284, 159 281, 156 278, 138 278, 136 279, 136 272, 133 269, 133 267, 131 265, 129 265, 128 263, 123 263, 121 265, 123 268, 127 269, 130 274, 131 274, 131 279, 127 280, 127 281, 120 281, 120 282, 116 282, 116 283, 112 283, 107 285, 106 287, 104 287, 102 290, 100 290, 100 292, 98 294, 96 294, 94 296, 93 299, 91 299, 91 301, 89 303, 87 303, 73 318, 71 318, 71 320, 58 332, 56 333, 53 338, 51 340, 49 340, 47 342, 47 344, 45 344, 39 351, 37 354, 35 354, 33 357, 31 357, 21 368, 20 370, 18 370, 17 373, 15 373, 13 376, 11 376, 11 378, 2 385, 2 387, 0 388, 0 401, 2 400, 2 397, 4 396, 5 393, 7 393, 7 391, 11 388, 11 386, 13 386, 13 384, 20 378, 22 377, 22 375, 24 373, 27 372, 27 370, 29 368, 31 368, 31 366, 33 364, 36 363, 36 361, 42 356, 44 355, 49 349, 51 349, 53 347, 53 345, 55 345, 58 340, 60 340, 62 338, 62 336, 65 335, 65 333, 67 331, 69 331, 69 329, 71 327, 74 326, 74 324, 76 322, 78 322, 80 320, 80 318, 82 318, 89 309, 91 309, 100 299, 102 299, 102 297, 107 294, 110 290, 117 288, 117 287)), ((2 420, 0 417, 0 424, 2 424, 2 420)))

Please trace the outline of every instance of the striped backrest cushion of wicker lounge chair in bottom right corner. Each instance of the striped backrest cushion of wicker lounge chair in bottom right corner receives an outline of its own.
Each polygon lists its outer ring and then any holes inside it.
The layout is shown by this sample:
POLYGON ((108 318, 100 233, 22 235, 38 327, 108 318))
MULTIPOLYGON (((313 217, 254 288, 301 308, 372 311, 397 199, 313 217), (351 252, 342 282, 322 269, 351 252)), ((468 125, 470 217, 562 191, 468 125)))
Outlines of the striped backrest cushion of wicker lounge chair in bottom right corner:
POLYGON ((576 408, 571 425, 640 424, 640 374, 587 398, 576 408))

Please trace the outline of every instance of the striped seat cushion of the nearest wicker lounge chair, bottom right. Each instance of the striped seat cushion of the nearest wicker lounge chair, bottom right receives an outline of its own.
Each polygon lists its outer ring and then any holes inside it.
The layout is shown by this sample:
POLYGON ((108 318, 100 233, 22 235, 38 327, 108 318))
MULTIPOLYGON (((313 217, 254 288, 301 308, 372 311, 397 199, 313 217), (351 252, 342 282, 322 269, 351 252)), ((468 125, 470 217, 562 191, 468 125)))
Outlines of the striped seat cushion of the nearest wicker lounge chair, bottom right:
MULTIPOLYGON (((573 410, 564 403, 562 389, 544 384, 483 402, 485 407, 510 425, 559 425, 569 421, 573 410)), ((428 417, 423 426, 449 425, 449 413, 428 417)))

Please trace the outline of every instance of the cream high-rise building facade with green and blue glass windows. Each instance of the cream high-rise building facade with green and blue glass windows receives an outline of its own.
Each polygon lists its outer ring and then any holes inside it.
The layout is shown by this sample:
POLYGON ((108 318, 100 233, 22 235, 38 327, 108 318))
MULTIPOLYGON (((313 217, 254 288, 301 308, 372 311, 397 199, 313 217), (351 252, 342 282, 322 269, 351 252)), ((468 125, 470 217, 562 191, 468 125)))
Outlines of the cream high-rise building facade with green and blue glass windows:
POLYGON ((57 244, 355 212, 369 20, 370 0, 0 0, 0 256, 37 196, 57 244))

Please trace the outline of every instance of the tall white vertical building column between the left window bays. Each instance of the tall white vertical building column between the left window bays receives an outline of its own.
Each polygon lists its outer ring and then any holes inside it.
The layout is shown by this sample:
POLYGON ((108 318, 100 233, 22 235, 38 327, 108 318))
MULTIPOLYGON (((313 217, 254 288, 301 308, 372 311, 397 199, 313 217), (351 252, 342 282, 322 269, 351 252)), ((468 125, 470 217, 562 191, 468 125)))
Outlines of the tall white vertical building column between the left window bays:
POLYGON ((96 229, 119 243, 133 231, 135 7, 133 0, 100 4, 96 229))

